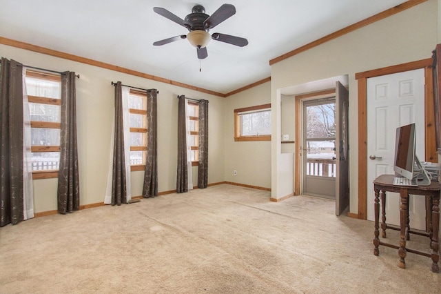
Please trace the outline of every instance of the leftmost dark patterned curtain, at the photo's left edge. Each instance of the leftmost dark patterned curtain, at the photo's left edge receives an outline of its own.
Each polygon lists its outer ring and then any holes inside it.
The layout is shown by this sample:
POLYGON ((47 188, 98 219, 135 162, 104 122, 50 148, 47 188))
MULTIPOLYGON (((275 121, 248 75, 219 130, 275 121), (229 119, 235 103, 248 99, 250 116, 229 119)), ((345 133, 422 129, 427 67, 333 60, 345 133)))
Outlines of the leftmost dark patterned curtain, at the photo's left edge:
POLYGON ((21 63, 1 58, 0 226, 23 220, 23 74, 21 63))

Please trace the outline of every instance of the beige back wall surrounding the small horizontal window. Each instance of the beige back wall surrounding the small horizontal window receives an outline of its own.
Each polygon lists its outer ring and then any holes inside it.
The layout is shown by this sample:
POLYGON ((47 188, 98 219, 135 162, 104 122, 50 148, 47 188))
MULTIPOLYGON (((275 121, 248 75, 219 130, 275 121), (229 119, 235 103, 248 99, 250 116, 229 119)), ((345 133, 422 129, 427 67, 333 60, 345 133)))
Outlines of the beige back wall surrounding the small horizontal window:
POLYGON ((271 141, 234 141, 234 109, 271 103, 267 82, 229 96, 224 105, 225 181, 271 188, 271 141), (233 175, 237 170, 237 175, 233 175))

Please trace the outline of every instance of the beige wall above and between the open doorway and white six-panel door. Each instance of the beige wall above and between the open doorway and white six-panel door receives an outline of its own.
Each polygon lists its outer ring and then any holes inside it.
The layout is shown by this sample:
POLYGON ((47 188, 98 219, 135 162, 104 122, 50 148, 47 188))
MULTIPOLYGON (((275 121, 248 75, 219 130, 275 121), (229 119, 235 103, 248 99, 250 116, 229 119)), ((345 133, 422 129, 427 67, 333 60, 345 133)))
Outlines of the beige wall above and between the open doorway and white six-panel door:
MULTIPOLYGON (((350 170, 358 170, 358 94, 356 72, 427 59, 435 48, 439 0, 382 19, 271 66, 273 134, 280 135, 280 89, 329 77, 349 75, 350 170)), ((284 175, 292 163, 283 160, 280 143, 271 143, 272 196, 289 190, 284 175)), ((350 212, 358 212, 358 177, 350 179, 350 212)))

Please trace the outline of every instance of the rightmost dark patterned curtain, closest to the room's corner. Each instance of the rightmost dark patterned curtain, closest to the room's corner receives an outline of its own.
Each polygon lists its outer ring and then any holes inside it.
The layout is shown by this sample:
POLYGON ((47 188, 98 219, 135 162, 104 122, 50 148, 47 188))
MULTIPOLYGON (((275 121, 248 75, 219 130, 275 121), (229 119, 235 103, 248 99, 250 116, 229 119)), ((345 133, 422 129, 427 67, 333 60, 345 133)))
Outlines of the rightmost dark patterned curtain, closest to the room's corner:
POLYGON ((199 101, 198 188, 208 185, 208 100, 199 101))

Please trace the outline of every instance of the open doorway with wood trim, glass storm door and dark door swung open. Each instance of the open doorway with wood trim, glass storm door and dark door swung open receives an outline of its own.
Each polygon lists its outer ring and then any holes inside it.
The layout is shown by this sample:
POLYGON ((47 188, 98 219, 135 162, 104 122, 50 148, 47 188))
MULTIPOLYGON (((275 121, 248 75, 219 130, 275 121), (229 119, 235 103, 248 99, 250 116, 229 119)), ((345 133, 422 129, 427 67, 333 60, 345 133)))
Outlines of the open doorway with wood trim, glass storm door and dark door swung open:
POLYGON ((296 195, 335 199, 340 215, 349 206, 349 92, 336 81, 334 89, 295 97, 296 195))

